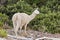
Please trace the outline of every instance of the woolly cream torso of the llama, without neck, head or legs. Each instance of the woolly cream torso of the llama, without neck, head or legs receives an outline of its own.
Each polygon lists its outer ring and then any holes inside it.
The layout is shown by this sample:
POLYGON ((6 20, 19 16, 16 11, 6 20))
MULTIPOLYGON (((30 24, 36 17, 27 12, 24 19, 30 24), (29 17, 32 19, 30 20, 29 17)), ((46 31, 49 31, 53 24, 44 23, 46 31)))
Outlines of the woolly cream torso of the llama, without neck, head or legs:
POLYGON ((23 26, 23 25, 25 25, 25 23, 30 21, 30 16, 28 16, 25 13, 16 13, 13 16, 12 20, 15 21, 16 25, 17 25, 17 23, 19 23, 19 24, 21 23, 20 26, 23 26))

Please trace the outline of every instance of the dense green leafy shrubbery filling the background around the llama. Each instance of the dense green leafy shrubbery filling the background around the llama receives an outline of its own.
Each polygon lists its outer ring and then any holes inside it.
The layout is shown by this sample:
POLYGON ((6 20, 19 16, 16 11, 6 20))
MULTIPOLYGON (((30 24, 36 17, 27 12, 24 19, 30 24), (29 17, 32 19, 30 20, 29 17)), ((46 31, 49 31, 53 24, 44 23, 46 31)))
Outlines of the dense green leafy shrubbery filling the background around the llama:
POLYGON ((0 20, 0 26, 5 22, 11 26, 14 13, 25 12, 30 15, 37 7, 40 14, 29 23, 29 27, 43 32, 60 33, 60 0, 3 0, 0 2, 0 15, 7 17, 0 20))

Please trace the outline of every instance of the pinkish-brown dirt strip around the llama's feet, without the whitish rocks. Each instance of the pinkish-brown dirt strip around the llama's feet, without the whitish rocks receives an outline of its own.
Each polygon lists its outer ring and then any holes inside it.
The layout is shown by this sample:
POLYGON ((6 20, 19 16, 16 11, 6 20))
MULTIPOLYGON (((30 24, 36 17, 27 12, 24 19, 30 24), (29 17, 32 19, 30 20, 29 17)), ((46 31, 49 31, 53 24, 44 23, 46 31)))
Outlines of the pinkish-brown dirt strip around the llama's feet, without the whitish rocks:
MULTIPOLYGON (((6 30, 8 34, 10 35, 15 35, 15 33, 13 32, 12 29, 7 29, 6 30)), ((34 38, 40 38, 40 37, 54 37, 54 38, 60 38, 60 34, 56 33, 56 34, 51 34, 51 33, 43 33, 40 31, 34 31, 34 30, 27 30, 27 34, 24 33, 24 31, 22 30, 22 32, 18 31, 19 36, 25 36, 25 37, 34 37, 34 38)))

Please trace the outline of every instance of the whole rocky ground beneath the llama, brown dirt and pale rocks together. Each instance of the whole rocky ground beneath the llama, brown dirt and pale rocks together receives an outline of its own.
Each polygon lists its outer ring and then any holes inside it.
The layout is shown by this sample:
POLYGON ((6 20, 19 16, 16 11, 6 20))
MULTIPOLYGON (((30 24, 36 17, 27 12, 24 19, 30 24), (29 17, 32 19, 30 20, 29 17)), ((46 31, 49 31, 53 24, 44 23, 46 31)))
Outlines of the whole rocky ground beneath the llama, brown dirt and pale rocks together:
POLYGON ((12 29, 7 29, 6 31, 8 33, 8 37, 5 38, 6 40, 52 40, 53 38, 60 38, 60 34, 43 33, 33 30, 28 30, 27 34, 25 34, 23 30, 21 33, 18 31, 19 36, 16 38, 12 29))

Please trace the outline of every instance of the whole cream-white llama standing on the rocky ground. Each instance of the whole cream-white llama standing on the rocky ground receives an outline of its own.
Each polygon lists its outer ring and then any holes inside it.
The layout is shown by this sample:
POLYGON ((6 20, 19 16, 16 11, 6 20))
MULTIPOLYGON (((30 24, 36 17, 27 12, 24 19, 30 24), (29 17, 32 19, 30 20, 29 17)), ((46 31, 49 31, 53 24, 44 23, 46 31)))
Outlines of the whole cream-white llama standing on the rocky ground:
POLYGON ((26 13, 15 13, 12 17, 12 22, 14 26, 14 32, 17 36, 17 31, 20 28, 20 31, 22 30, 22 27, 24 26, 25 28, 25 33, 26 33, 26 27, 27 24, 35 18, 35 16, 39 14, 38 9, 34 10, 34 12, 31 15, 27 15, 26 13))

